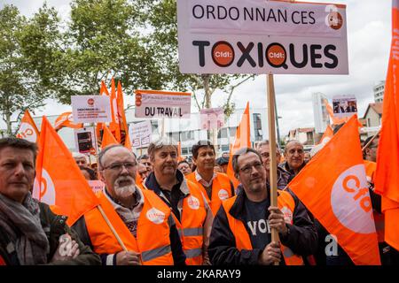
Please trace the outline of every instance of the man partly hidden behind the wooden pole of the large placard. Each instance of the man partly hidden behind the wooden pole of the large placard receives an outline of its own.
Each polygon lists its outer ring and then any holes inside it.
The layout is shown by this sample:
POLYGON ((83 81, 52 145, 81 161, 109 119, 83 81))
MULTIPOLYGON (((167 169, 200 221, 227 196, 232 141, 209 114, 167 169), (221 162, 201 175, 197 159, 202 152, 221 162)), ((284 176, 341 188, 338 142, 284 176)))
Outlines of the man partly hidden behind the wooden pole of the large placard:
MULTIPOLYGON (((269 141, 263 141, 258 144, 257 148, 259 154, 262 157, 262 163, 263 167, 266 170, 266 184, 268 187, 270 187, 270 145, 269 141)), ((276 148, 276 158, 277 158, 277 164, 280 160, 280 150, 278 147, 276 148)), ((284 189, 286 185, 290 182, 290 180, 293 179, 293 176, 291 175, 290 172, 286 172, 285 169, 282 167, 277 168, 277 176, 278 176, 278 189, 284 189)))

